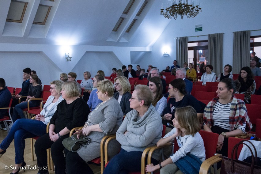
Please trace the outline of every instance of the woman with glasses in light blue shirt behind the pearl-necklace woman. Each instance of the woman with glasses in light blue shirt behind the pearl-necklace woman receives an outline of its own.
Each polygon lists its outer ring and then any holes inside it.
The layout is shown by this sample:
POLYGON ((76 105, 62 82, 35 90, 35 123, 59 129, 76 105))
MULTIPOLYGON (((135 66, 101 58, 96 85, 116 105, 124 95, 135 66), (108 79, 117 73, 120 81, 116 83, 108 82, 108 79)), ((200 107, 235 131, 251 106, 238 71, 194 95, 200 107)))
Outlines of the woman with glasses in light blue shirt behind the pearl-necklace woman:
POLYGON ((96 86, 97 86, 98 82, 102 81, 102 80, 104 80, 104 76, 102 76, 102 75, 96 75, 93 78, 93 90, 90 94, 89 100, 87 101, 87 104, 90 108, 90 111, 93 111, 93 109, 96 108, 96 106, 100 102, 102 102, 100 99, 98 99, 98 96, 97 96, 97 93, 96 93, 97 92, 96 86))

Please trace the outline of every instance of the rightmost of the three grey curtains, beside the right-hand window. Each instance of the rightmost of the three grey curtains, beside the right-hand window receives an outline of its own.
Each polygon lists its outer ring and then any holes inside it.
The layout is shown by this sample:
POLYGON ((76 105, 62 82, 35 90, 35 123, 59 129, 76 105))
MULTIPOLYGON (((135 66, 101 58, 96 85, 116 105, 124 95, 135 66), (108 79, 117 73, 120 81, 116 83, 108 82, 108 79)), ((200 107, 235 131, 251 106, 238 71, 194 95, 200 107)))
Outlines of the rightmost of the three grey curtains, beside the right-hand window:
POLYGON ((233 74, 239 74, 244 66, 250 66, 250 31, 234 32, 233 74))

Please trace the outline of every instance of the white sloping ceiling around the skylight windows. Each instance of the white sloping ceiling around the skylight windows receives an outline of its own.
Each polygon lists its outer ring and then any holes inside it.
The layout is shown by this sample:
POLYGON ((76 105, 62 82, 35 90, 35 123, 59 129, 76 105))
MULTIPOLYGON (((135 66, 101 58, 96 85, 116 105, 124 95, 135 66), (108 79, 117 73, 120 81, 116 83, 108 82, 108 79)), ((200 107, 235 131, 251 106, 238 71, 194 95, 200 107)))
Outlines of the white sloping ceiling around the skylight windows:
POLYGON ((122 12, 129 0, 21 1, 28 2, 22 23, 6 22, 11 0, 0 1, 0 43, 148 47, 171 21, 160 15, 161 4, 168 0, 149 0, 139 17, 136 13, 145 0, 135 0, 127 15, 122 12), (39 4, 52 6, 45 25, 32 24, 39 4), (119 17, 126 17, 125 23, 112 32, 119 17))

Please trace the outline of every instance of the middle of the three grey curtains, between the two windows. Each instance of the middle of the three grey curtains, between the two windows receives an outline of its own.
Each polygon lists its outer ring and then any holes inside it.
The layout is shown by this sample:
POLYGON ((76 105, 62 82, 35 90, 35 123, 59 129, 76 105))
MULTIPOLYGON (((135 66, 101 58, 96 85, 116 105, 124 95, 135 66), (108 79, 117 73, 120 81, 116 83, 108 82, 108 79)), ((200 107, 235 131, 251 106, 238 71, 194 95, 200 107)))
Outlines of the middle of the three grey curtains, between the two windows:
POLYGON ((213 66, 216 76, 223 72, 223 33, 208 35, 208 64, 213 66))

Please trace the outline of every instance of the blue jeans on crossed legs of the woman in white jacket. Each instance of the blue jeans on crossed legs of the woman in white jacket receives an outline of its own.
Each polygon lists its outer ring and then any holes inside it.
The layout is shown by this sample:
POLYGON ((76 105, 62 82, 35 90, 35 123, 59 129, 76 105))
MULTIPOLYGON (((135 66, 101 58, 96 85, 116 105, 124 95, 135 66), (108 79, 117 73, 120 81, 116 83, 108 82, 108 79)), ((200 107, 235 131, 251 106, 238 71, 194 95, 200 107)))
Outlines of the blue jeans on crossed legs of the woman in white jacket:
POLYGON ((25 138, 46 134, 46 126, 41 121, 18 119, 0 144, 0 148, 3 150, 7 149, 14 139, 15 164, 20 164, 24 161, 25 138))

